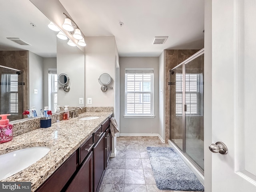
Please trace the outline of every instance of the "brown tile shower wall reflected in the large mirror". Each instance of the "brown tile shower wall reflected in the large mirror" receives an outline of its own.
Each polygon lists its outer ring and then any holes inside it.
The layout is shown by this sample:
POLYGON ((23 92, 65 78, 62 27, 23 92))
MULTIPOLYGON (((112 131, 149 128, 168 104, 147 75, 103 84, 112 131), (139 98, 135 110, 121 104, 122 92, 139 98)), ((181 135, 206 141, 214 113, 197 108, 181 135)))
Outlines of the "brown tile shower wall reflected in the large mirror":
MULTIPOLYGON (((24 109, 28 109, 28 51, 0 51, 0 65, 23 71, 23 106, 24 109)), ((12 120, 12 116, 9 119, 12 120)))

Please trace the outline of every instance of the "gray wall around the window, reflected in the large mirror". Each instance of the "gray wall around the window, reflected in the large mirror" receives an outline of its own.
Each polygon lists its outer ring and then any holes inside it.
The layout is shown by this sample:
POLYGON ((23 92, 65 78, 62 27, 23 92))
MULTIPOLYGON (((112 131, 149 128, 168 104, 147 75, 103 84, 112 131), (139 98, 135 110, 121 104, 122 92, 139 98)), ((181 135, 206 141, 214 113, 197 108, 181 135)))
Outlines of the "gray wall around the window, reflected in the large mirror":
POLYGON ((48 70, 50 69, 57 69, 57 58, 56 57, 49 57, 49 58, 43 58, 43 75, 44 75, 44 106, 49 105, 48 101, 48 70))

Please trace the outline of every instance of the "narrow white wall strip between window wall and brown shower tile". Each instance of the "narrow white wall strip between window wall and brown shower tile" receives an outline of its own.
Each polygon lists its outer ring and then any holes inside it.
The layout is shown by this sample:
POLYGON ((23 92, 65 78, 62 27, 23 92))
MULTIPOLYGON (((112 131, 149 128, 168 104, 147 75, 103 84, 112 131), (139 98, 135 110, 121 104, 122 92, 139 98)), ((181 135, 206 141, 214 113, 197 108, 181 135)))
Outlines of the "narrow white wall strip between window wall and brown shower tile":
POLYGON ((159 56, 159 128, 158 134, 164 140, 165 138, 165 67, 164 67, 164 51, 159 56), (162 90, 162 92, 161 92, 162 90))

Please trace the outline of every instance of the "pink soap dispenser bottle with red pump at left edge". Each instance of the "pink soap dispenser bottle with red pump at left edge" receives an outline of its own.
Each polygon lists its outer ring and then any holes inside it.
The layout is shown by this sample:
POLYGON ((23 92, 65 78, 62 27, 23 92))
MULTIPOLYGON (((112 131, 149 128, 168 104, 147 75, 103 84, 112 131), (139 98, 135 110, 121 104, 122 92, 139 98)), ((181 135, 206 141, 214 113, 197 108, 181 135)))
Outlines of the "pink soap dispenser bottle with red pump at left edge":
POLYGON ((9 124, 7 116, 10 114, 2 114, 0 117, 0 143, 8 142, 12 140, 12 124, 9 124))

